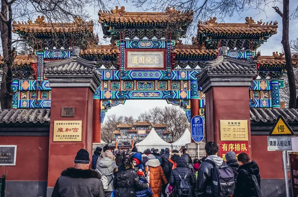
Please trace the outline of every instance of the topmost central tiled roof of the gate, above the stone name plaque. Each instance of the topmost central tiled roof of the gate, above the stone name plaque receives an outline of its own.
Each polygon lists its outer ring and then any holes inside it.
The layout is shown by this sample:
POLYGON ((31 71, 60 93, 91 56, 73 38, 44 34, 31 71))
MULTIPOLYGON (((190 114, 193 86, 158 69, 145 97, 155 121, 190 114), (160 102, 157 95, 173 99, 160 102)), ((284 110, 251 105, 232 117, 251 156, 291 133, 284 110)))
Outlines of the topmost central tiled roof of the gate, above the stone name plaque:
POLYGON ((98 12, 99 22, 114 22, 114 23, 177 23, 184 20, 188 20, 189 23, 192 21, 193 11, 180 12, 167 7, 166 12, 128 12, 125 11, 125 7, 121 6, 119 9, 111 11, 100 10, 98 12))

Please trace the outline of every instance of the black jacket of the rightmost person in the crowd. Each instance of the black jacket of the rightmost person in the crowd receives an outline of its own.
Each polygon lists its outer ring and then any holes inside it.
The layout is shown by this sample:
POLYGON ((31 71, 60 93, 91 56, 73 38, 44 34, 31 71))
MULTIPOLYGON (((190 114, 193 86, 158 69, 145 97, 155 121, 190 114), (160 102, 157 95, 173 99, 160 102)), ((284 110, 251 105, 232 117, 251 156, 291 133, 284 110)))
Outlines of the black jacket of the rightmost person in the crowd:
POLYGON ((238 177, 236 181, 236 189, 234 197, 255 197, 257 196, 252 175, 255 175, 258 184, 261 184, 261 176, 259 174, 259 167, 255 161, 244 164, 238 169, 238 177))

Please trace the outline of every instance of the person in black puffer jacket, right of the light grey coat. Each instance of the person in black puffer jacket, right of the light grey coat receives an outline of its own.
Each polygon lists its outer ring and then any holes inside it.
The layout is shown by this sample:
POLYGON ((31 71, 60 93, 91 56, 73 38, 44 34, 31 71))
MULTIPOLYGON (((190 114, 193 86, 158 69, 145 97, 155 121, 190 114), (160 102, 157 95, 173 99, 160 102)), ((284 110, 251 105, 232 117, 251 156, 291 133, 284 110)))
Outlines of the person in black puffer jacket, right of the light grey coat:
POLYGON ((128 157, 122 159, 121 165, 114 171, 114 197, 136 197, 136 190, 145 190, 148 184, 141 183, 134 166, 128 157))

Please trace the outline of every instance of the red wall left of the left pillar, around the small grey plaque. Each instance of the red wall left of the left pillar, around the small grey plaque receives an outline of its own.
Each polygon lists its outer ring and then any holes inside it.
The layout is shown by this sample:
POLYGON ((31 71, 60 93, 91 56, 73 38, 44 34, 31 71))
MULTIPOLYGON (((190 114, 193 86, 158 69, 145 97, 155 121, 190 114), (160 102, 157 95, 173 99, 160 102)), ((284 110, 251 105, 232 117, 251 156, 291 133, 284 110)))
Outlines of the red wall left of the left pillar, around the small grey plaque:
POLYGON ((49 136, 1 136, 1 145, 17 145, 16 165, 0 166, 6 181, 47 181, 49 136))

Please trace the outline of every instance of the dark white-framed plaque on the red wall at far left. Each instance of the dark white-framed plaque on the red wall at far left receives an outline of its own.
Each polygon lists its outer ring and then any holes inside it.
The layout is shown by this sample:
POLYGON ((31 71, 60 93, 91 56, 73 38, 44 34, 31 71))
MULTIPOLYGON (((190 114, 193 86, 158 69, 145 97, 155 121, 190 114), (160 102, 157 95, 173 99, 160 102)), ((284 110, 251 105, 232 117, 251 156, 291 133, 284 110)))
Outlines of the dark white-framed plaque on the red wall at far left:
POLYGON ((15 166, 16 145, 0 145, 0 166, 15 166))

